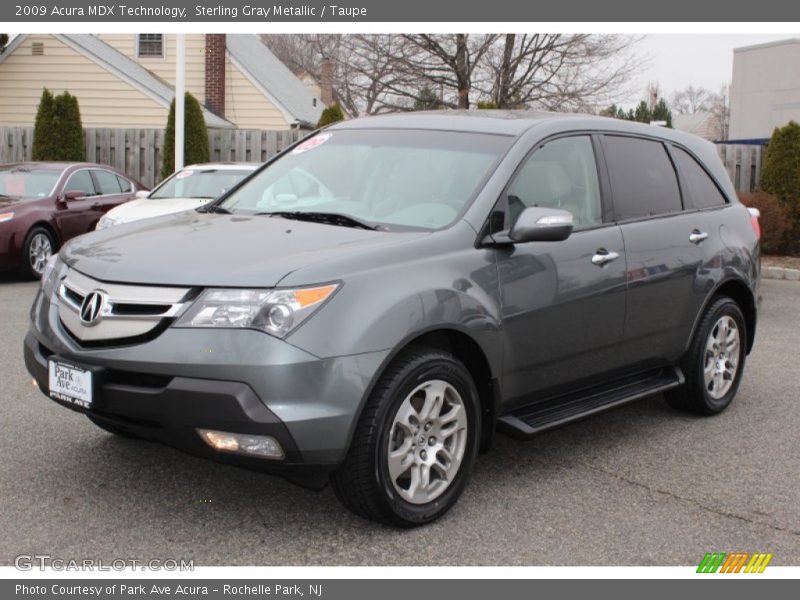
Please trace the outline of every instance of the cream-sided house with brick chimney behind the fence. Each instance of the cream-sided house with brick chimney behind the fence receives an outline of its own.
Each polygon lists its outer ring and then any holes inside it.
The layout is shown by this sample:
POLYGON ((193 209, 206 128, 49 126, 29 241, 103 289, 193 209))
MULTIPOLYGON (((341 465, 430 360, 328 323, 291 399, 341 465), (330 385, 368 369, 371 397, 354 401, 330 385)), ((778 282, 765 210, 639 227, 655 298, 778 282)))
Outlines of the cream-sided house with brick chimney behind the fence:
MULTIPOLYGON (((42 88, 68 90, 85 127, 162 128, 175 34, 18 35, 0 54, 0 126, 32 126, 42 88)), ((185 84, 219 128, 312 129, 322 95, 249 34, 186 34, 185 84)))

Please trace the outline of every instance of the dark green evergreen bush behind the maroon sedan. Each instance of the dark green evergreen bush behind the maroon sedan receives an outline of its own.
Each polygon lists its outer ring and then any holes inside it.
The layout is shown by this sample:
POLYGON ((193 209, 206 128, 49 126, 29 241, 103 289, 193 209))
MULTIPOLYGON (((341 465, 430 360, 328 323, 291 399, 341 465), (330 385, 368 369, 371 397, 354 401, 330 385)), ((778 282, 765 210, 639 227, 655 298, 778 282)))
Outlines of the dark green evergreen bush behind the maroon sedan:
POLYGON ((69 92, 58 96, 45 88, 33 127, 33 160, 81 162, 86 144, 78 99, 69 92))

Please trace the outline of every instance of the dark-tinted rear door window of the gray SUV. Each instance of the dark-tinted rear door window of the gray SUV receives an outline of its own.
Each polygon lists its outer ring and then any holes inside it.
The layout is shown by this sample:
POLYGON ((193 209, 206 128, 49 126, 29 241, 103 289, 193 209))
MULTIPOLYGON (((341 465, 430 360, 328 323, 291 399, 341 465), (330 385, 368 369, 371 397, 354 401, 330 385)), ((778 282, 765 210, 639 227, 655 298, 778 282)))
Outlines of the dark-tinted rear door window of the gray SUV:
POLYGON ((603 144, 618 221, 679 212, 675 168, 661 142, 606 136, 603 144))

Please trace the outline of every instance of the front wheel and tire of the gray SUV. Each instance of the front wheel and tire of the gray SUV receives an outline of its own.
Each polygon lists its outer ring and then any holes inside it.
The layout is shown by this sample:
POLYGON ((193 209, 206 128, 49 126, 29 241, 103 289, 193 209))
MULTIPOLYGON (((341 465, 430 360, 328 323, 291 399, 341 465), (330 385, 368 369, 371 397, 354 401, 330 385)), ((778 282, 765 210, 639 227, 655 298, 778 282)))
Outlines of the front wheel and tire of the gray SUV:
POLYGON ((333 490, 366 519, 397 527, 430 523, 467 485, 480 418, 478 391, 460 361, 431 348, 406 352, 367 400, 347 457, 331 477, 333 490))

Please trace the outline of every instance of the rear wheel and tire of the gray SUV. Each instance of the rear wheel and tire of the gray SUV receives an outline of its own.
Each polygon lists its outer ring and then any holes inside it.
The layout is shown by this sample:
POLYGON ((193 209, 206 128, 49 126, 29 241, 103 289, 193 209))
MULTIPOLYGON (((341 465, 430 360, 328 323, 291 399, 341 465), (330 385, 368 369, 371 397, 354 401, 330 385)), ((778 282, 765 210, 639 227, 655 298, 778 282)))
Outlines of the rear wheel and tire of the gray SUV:
POLYGON ((747 326, 739 305, 727 296, 712 299, 681 361, 686 384, 665 394, 669 405, 699 415, 721 413, 739 389, 746 348, 747 326))

